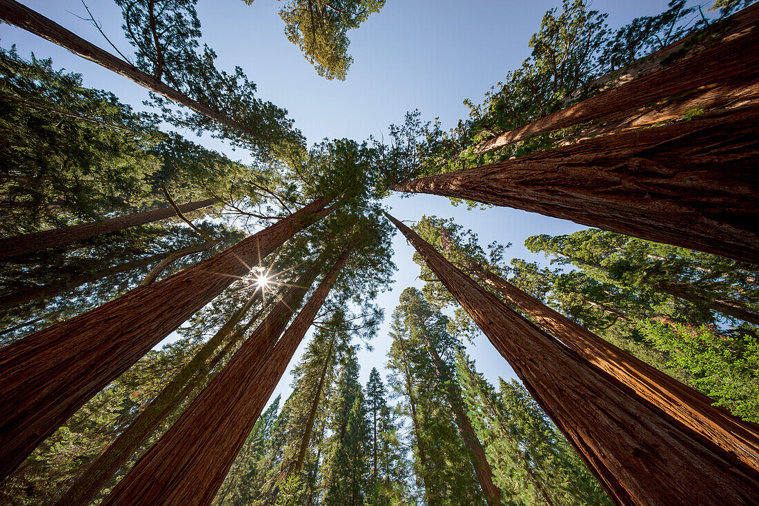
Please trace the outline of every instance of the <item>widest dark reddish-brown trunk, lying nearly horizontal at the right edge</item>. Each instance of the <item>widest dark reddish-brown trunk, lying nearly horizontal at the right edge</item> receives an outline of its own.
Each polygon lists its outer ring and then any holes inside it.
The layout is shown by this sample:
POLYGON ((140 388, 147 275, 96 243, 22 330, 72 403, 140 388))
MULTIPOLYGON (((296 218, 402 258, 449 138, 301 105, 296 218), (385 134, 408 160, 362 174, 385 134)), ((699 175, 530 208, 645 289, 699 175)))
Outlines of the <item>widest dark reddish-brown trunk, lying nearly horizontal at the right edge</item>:
POLYGON ((704 115, 394 189, 539 212, 756 263, 757 119, 754 106, 704 115))

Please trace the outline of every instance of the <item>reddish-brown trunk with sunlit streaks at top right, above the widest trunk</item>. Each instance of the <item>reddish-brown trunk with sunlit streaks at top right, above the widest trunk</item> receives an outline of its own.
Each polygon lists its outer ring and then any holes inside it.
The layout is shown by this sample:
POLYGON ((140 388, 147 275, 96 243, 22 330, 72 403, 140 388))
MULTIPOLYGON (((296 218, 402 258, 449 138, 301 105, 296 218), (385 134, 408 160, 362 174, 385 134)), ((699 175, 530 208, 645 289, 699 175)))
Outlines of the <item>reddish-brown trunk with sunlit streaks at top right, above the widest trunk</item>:
MULTIPOLYGON (((751 5, 726 20, 724 42, 477 144, 471 152, 481 154, 586 121, 612 123, 617 129, 643 127, 678 118, 689 108, 709 109, 755 99, 759 96, 756 19, 757 5, 751 5), (651 106, 665 99, 672 103, 651 106), (653 111, 641 115, 635 111, 641 107, 653 111)), ((681 46, 681 42, 672 46, 681 46)))

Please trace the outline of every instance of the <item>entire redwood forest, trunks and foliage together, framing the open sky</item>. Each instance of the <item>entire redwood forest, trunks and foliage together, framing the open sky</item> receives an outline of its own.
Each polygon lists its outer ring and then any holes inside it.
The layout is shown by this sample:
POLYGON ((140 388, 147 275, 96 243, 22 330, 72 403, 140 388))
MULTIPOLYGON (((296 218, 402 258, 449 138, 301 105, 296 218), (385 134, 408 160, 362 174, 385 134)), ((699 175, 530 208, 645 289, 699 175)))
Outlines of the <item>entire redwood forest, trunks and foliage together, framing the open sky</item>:
MULTIPOLYGON (((2 39, 3 504, 757 498, 754 2, 562 0, 455 125, 315 143, 197 0, 115 5, 98 47, 0 0, 149 97, 2 39), (518 255, 397 193, 579 225, 518 255)), ((390 7, 288 0, 282 35, 348 83, 390 7)))

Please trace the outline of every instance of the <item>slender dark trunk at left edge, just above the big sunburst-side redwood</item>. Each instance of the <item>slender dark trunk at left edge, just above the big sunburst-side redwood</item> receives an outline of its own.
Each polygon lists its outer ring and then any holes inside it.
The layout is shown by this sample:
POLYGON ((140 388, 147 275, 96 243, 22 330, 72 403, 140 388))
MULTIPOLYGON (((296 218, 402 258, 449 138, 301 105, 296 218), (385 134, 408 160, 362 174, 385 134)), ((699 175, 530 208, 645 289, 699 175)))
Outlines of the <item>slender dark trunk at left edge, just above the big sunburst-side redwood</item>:
POLYGON ((106 278, 106 276, 121 274, 122 272, 130 272, 134 269, 150 266, 151 263, 159 262, 171 254, 171 251, 157 253, 156 255, 145 256, 136 260, 130 260, 129 262, 122 262, 118 264, 118 266, 106 267, 105 269, 97 269, 94 271, 85 270, 71 278, 61 278, 59 281, 52 284, 31 286, 22 290, 13 291, 0 300, 0 313, 11 311, 15 307, 29 303, 32 300, 45 300, 50 297, 55 297, 66 291, 74 290, 74 288, 80 287, 83 284, 92 283, 99 279, 106 278))

